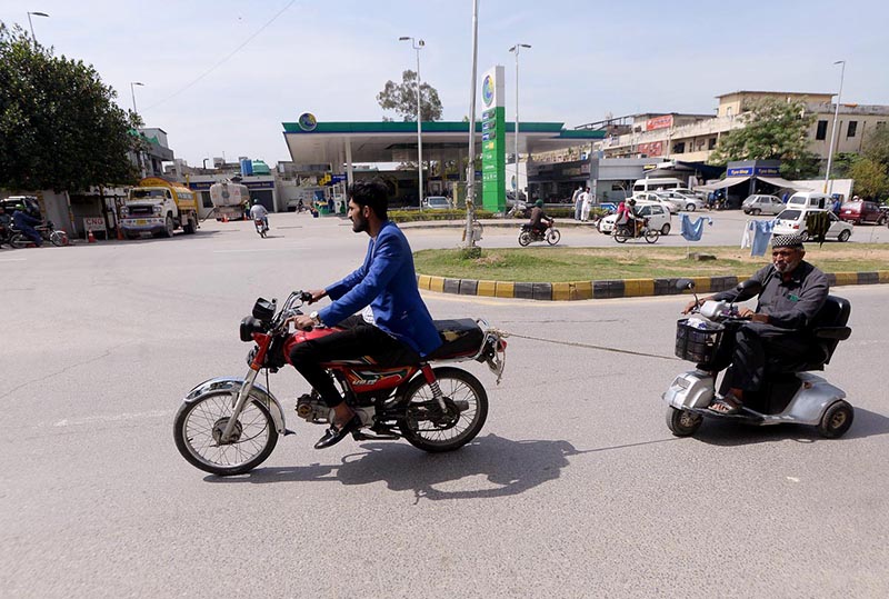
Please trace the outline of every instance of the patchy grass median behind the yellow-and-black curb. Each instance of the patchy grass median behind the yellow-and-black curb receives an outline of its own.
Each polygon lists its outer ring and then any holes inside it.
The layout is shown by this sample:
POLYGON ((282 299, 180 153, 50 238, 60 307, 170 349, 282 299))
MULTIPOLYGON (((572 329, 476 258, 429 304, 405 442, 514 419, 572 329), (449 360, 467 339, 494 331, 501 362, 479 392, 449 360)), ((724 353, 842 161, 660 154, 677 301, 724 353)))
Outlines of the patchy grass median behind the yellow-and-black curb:
MULTIPOLYGON (((727 247, 693 247, 692 252, 715 256, 695 260, 682 247, 622 248, 483 248, 480 258, 463 259, 460 250, 421 250, 413 254, 417 272, 450 279, 516 282, 568 282, 606 279, 658 279, 751 274, 770 254, 727 247)), ((825 272, 889 270, 889 244, 806 244, 806 260, 825 272)))

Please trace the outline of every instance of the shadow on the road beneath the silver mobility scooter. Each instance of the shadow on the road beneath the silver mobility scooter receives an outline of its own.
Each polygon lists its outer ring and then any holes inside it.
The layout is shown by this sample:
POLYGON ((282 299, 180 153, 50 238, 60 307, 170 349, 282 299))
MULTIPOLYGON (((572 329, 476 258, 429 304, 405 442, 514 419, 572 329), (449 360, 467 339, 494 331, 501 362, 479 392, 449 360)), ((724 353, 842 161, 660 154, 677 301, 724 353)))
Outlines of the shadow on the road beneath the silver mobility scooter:
POLYGON ((803 425, 788 423, 755 427, 737 422, 722 422, 709 418, 705 420, 700 430, 695 433, 695 438, 715 446, 731 447, 786 441, 788 439, 800 443, 813 443, 816 441, 841 442, 849 439, 886 435, 887 432, 889 432, 889 418, 881 413, 856 408, 852 428, 840 439, 826 439, 821 437, 815 427, 803 425))

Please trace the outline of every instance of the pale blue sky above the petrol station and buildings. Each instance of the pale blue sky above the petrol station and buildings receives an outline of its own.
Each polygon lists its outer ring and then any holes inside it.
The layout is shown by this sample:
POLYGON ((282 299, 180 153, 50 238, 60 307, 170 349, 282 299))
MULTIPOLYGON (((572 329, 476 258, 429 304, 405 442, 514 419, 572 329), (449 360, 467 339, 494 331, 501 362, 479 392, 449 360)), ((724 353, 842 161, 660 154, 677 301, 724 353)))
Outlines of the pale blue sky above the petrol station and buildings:
MULTIPOLYGON (((426 41, 421 76, 444 119, 469 113, 471 0, 0 0, 7 24, 27 29, 28 11, 50 14, 32 17, 38 40, 93 64, 120 106, 143 82, 139 112, 190 164, 223 152, 288 160, 281 122, 302 112, 380 120, 377 93, 416 63, 400 36, 426 41)), ((715 96, 739 89, 836 92, 840 59, 843 101, 889 104, 887 26, 889 3, 876 0, 479 0, 479 72, 507 68, 511 119, 508 49, 530 43, 521 120, 566 127, 607 113, 712 113, 715 96)))

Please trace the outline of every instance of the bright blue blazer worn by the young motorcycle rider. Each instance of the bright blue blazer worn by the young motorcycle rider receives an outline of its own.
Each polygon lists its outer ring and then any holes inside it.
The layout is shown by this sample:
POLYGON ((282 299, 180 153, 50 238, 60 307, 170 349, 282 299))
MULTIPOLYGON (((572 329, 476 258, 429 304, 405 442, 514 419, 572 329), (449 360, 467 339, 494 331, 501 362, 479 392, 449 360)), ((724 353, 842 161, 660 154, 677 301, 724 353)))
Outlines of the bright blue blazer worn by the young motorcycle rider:
POLYGON ((410 246, 394 222, 383 222, 368 243, 361 268, 326 289, 333 302, 318 311, 327 326, 370 305, 377 327, 408 345, 420 356, 441 346, 429 310, 417 289, 410 246))

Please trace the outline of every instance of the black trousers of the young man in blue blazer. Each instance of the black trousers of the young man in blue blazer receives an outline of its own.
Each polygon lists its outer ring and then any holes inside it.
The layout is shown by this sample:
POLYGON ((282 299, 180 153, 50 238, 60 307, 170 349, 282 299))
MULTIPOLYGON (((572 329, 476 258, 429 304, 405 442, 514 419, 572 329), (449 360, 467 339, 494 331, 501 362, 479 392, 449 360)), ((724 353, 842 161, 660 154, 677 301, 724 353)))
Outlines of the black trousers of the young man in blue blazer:
POLYGON ((338 406, 342 398, 333 379, 321 367, 322 363, 367 356, 376 366, 386 368, 412 365, 420 360, 411 348, 368 325, 360 316, 350 316, 337 327, 344 330, 299 343, 290 350, 290 363, 331 408, 338 406))

